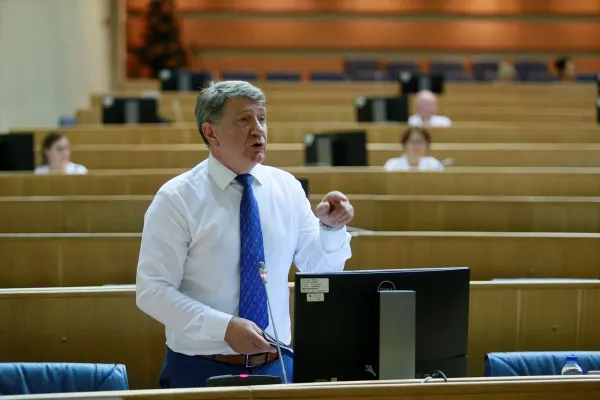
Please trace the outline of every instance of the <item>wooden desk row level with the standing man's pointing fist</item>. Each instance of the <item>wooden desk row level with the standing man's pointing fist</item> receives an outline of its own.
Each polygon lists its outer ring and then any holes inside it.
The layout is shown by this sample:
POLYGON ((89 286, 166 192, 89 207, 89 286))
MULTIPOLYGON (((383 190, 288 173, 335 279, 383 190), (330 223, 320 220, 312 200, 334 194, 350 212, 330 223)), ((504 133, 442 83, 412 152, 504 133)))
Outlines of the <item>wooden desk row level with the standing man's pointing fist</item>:
MULTIPOLYGON (((351 226, 368 230, 600 233, 600 197, 348 196, 351 226)), ((0 197, 0 233, 141 232, 152 198, 0 197)))

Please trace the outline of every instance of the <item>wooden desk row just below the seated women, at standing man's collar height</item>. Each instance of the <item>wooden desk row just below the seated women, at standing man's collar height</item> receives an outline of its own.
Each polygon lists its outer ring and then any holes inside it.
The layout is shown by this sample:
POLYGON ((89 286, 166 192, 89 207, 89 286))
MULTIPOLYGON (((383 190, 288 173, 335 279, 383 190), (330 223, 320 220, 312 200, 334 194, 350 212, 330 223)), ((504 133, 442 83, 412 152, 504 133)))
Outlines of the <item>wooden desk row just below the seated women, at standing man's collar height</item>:
MULTIPOLYGON (((312 193, 474 196, 600 196, 600 169, 454 167, 385 172, 379 167, 284 168, 312 193)), ((154 195, 186 170, 92 171, 88 175, 0 174, 0 196, 154 195)))

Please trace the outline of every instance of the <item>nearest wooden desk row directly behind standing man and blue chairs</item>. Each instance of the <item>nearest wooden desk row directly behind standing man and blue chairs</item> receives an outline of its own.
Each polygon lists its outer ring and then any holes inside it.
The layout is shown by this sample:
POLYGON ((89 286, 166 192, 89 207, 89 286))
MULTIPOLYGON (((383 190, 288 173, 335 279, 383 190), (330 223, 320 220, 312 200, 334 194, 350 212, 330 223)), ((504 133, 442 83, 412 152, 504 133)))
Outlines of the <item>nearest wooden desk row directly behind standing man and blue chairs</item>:
MULTIPOLYGON (((598 299, 595 282, 472 282, 469 376, 493 351, 598 348, 598 299)), ((123 363, 132 389, 158 386, 164 329, 136 307, 133 286, 2 289, 0 315, 0 361, 123 363)))

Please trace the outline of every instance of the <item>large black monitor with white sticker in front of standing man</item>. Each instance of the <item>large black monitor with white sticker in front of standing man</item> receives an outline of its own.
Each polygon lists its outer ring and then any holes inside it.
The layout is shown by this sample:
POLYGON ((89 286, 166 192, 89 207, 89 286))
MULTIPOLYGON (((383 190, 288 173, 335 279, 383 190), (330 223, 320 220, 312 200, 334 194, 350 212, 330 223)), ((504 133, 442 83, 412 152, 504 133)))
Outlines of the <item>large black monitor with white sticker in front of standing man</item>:
POLYGON ((466 267, 296 273, 294 383, 466 377, 469 281, 466 267))

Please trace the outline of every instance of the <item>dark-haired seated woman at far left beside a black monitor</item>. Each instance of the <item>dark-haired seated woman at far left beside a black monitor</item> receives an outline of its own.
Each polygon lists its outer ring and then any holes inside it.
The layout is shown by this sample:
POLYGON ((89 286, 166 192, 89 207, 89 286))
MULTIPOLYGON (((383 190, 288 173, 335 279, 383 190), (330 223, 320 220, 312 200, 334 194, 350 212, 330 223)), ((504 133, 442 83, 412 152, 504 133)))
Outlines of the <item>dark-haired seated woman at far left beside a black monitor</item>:
POLYGON ((49 133, 42 145, 42 165, 35 169, 36 174, 83 175, 88 170, 83 165, 71 162, 69 139, 59 132, 49 133))

